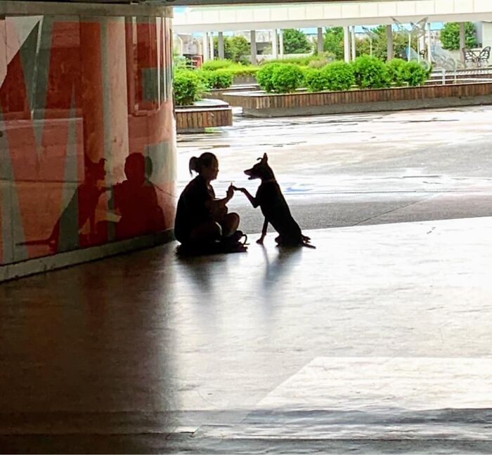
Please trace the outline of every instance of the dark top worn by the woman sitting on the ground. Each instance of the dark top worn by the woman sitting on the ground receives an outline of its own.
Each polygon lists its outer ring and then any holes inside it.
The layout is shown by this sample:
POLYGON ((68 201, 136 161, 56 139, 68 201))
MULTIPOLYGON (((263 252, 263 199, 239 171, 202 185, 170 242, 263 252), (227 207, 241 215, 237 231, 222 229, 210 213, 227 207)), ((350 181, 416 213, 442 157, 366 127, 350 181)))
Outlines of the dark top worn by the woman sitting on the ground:
POLYGON ((196 176, 186 185, 179 197, 174 222, 174 235, 179 242, 188 242, 195 227, 212 221, 212 204, 207 202, 214 199, 213 188, 207 185, 202 176, 196 176))

